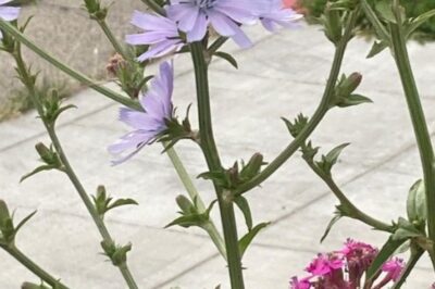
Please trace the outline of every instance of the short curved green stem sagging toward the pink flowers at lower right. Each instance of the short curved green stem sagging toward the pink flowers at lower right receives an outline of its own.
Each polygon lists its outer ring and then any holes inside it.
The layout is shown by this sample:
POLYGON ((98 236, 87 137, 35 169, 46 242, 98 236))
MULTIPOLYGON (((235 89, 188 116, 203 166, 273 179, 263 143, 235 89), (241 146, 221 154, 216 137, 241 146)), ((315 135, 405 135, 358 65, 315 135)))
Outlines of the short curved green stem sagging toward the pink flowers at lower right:
POLYGON ((338 188, 337 184, 335 184, 334 179, 325 175, 322 169, 320 169, 313 162, 307 160, 308 165, 311 169, 325 181, 325 184, 330 187, 331 191, 337 197, 340 204, 346 208, 346 211, 349 211, 349 217, 361 221, 362 223, 372 226, 377 230, 384 230, 388 233, 394 233, 394 227, 381 222, 376 218, 369 216, 368 214, 360 211, 347 197, 346 194, 338 188))

